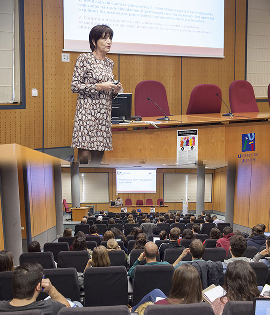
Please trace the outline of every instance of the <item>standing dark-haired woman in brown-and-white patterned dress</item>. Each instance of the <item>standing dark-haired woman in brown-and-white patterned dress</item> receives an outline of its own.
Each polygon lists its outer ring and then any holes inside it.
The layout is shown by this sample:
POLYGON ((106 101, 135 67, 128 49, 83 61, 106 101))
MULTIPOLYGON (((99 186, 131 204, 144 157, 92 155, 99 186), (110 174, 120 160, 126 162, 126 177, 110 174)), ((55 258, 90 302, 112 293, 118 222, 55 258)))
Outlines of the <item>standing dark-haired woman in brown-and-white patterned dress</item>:
POLYGON ((91 53, 76 60, 71 90, 78 93, 71 147, 78 148, 81 164, 99 165, 104 151, 112 150, 111 99, 121 90, 115 84, 113 61, 106 57, 113 30, 106 25, 93 27, 89 34, 91 53))

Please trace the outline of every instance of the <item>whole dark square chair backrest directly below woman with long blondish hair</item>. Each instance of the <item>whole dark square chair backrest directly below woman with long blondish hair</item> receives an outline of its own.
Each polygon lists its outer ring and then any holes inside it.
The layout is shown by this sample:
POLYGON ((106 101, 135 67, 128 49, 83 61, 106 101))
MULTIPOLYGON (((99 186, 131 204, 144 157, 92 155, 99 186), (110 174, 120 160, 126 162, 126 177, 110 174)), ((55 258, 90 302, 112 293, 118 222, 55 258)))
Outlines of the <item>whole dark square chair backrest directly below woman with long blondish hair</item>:
POLYGON ((84 273, 85 306, 127 305, 127 284, 124 266, 87 268, 84 273))

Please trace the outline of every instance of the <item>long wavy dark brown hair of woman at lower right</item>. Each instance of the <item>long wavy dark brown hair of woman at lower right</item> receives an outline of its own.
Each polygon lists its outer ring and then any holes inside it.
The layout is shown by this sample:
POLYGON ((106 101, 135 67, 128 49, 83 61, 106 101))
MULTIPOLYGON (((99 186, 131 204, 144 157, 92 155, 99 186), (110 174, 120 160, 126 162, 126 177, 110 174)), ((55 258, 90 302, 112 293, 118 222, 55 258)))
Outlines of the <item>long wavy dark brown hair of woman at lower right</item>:
POLYGON ((252 301, 260 295, 255 271, 250 263, 243 260, 228 264, 223 287, 229 301, 252 301))

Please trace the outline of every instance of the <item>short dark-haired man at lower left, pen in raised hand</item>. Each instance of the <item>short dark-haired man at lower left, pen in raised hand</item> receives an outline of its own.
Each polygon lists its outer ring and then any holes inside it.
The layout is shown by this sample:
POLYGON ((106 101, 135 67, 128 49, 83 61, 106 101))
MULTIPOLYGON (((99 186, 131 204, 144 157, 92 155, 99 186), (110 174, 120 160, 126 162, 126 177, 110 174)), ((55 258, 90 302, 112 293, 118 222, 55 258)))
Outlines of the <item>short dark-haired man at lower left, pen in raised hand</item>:
POLYGON ((68 301, 50 283, 43 279, 43 267, 38 263, 23 263, 15 270, 12 277, 13 299, 0 301, 0 312, 42 310, 44 314, 56 315, 63 307, 70 307, 68 301), (41 290, 51 298, 37 301, 41 290))

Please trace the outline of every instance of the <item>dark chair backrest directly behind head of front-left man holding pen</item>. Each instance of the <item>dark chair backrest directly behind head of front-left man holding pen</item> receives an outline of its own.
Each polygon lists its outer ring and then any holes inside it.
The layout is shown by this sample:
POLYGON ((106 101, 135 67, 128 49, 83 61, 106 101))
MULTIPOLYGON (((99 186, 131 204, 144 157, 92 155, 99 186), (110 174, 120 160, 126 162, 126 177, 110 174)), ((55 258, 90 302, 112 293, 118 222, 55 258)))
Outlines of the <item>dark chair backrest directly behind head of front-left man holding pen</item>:
POLYGON ((22 253, 19 257, 19 264, 25 262, 40 263, 44 269, 56 268, 51 251, 22 253))

